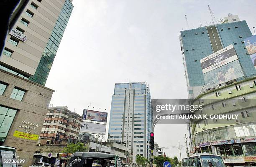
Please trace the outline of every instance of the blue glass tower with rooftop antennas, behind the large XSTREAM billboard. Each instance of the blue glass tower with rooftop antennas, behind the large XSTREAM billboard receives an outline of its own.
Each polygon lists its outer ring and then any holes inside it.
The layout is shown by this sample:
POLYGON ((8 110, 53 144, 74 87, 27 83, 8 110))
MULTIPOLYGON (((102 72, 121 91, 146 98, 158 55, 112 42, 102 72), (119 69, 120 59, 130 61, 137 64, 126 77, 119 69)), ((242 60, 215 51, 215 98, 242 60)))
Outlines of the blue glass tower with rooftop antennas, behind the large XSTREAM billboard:
POLYGON ((185 68, 189 98, 202 92, 205 81, 200 59, 218 50, 233 45, 246 77, 253 77, 256 70, 243 42, 252 33, 245 20, 238 16, 225 17, 224 23, 181 31, 180 45, 185 68))

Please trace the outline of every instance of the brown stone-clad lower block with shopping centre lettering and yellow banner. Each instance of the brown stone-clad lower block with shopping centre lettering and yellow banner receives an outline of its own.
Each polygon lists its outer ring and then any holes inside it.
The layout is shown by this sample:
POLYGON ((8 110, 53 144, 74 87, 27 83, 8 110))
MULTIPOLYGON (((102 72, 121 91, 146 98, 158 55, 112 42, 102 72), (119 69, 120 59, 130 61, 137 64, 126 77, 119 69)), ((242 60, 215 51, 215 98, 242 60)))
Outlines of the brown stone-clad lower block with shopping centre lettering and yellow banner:
POLYGON ((54 90, 0 70, 0 144, 17 148, 24 167, 32 163, 54 90))

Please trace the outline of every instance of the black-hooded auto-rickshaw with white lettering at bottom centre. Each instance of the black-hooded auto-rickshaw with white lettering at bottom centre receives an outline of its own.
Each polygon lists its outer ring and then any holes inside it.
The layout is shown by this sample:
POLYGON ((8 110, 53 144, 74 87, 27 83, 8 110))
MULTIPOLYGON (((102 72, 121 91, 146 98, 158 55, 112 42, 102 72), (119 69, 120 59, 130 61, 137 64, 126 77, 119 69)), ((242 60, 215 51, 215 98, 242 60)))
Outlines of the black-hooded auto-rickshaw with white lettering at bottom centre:
POLYGON ((100 167, 113 166, 110 164, 115 164, 114 167, 124 167, 118 155, 101 152, 75 152, 71 155, 67 167, 94 167, 98 166, 97 162, 100 162, 100 167))

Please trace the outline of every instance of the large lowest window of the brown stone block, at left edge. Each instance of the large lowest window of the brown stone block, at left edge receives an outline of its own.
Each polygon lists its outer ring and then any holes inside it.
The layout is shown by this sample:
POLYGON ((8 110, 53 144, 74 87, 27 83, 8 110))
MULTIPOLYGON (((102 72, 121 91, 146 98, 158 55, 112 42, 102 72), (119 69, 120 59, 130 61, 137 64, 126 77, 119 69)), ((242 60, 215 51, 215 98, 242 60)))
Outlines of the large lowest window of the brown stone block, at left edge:
POLYGON ((0 106, 0 142, 4 142, 5 138, 13 123, 13 119, 17 110, 0 106))

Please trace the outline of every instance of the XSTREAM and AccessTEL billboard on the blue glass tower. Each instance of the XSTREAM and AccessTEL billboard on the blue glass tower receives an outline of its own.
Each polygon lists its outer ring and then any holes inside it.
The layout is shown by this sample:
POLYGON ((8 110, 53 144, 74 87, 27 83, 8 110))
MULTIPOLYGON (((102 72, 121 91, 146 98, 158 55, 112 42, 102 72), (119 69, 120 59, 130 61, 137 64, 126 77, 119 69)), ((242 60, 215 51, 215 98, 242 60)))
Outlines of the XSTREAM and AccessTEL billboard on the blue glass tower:
POLYGON ((233 45, 229 45, 219 50, 218 52, 212 53, 211 55, 204 57, 200 60, 202 72, 205 74, 218 67, 226 65, 230 62, 237 60, 236 50, 233 45))

